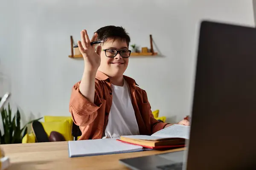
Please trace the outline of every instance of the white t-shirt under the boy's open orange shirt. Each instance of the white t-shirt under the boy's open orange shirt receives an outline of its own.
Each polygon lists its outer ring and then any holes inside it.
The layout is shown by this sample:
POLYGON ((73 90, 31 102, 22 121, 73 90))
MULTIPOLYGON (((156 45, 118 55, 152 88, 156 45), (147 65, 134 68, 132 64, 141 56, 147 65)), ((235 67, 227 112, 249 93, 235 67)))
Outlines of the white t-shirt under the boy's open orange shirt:
POLYGON ((123 86, 111 84, 112 105, 108 125, 103 138, 118 138, 122 135, 139 135, 139 127, 131 103, 131 92, 127 82, 123 86))

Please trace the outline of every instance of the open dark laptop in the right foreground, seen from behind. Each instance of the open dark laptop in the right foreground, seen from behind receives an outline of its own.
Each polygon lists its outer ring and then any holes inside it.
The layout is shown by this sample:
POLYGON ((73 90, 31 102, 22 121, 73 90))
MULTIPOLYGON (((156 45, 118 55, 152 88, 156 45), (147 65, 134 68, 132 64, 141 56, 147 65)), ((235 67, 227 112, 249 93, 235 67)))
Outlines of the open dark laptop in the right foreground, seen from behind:
POLYGON ((256 28, 201 22, 188 150, 122 159, 134 170, 256 168, 256 28))

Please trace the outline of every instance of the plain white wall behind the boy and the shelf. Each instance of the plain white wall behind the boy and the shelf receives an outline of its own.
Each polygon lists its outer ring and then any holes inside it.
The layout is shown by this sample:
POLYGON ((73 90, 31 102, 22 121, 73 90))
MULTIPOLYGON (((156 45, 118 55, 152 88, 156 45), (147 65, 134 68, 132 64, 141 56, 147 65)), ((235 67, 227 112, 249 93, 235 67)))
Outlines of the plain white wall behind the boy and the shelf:
POLYGON ((164 57, 130 58, 126 75, 148 93, 152 109, 176 122, 190 113, 198 24, 213 19, 254 26, 251 0, 23 0, 0 6, 0 93, 26 117, 69 115, 70 91, 83 61, 70 59, 70 35, 123 26, 131 42, 164 57), (65 2, 65 3, 64 3, 65 2))

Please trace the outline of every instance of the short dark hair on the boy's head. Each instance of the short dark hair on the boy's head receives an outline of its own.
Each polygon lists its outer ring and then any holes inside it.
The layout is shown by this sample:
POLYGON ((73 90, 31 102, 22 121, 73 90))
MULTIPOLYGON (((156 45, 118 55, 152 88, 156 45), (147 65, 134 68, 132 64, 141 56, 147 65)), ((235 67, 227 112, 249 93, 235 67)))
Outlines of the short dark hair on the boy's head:
POLYGON ((96 31, 96 33, 98 34, 97 41, 103 40, 104 42, 106 42, 108 39, 113 39, 113 41, 115 41, 116 39, 119 39, 121 41, 125 41, 128 47, 131 41, 125 28, 121 26, 105 26, 105 27, 99 28, 96 31))

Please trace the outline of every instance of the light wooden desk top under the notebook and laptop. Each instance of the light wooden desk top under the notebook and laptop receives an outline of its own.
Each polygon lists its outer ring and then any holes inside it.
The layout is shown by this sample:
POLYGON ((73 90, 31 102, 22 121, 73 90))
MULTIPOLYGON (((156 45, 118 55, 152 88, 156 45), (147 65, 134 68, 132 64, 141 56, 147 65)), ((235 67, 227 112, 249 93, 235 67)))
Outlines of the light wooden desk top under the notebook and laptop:
POLYGON ((2 144, 0 146, 10 158, 12 165, 8 170, 128 170, 119 163, 119 159, 184 150, 184 148, 169 151, 150 150, 69 158, 67 142, 2 144))

